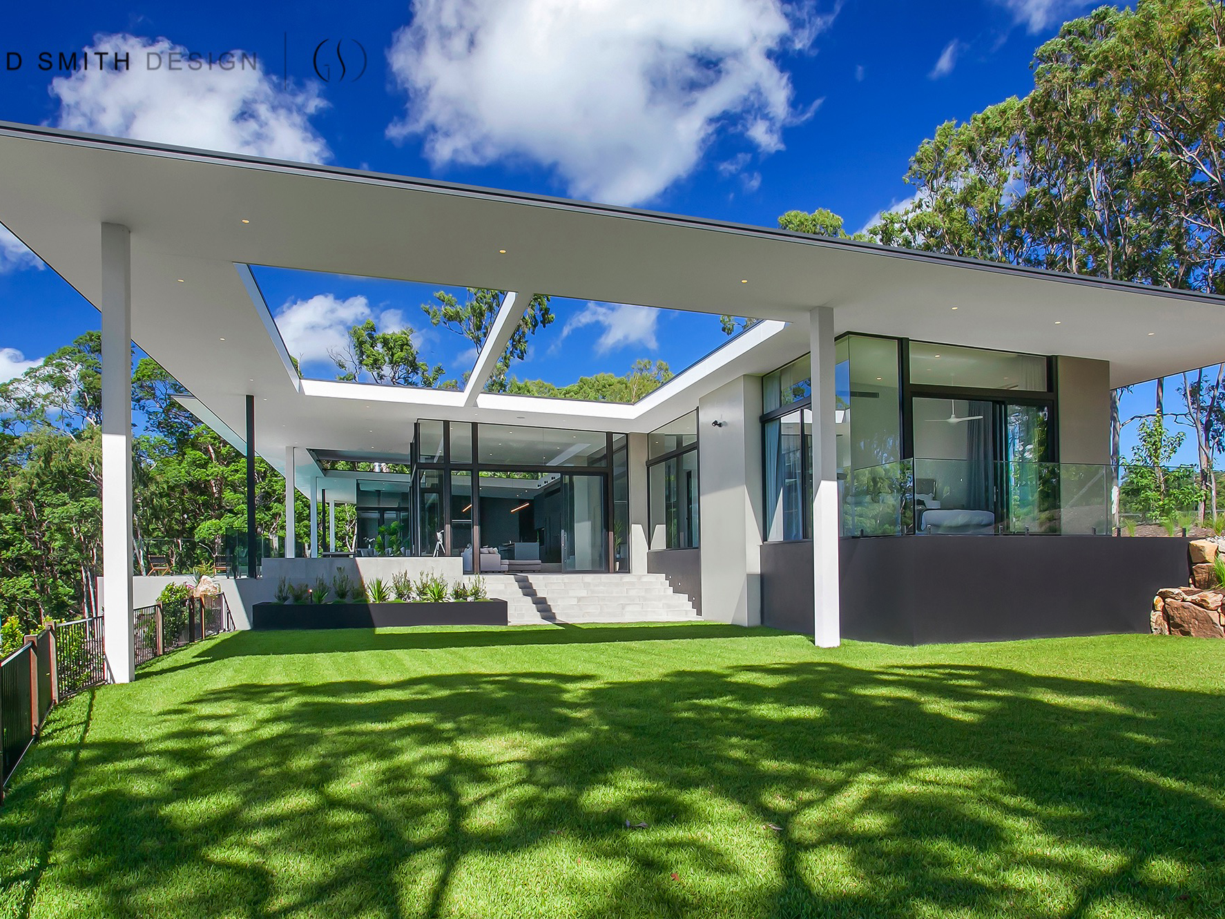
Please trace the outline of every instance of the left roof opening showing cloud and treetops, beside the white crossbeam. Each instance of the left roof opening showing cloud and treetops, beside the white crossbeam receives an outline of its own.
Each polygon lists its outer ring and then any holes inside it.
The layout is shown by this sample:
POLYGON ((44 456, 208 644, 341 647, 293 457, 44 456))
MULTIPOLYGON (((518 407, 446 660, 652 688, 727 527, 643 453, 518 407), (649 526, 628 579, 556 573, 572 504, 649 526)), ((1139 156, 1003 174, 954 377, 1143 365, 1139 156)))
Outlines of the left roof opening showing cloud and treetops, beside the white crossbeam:
POLYGON ((462 390, 505 292, 249 266, 301 376, 462 390))

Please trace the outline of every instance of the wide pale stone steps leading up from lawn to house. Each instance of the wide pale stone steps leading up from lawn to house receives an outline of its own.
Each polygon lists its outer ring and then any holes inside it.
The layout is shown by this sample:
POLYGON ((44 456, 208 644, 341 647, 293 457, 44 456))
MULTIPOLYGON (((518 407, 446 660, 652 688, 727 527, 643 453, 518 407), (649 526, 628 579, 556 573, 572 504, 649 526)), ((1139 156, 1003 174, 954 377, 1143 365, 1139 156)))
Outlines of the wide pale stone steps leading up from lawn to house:
POLYGON ((511 625, 702 621, 663 575, 485 575, 511 625))

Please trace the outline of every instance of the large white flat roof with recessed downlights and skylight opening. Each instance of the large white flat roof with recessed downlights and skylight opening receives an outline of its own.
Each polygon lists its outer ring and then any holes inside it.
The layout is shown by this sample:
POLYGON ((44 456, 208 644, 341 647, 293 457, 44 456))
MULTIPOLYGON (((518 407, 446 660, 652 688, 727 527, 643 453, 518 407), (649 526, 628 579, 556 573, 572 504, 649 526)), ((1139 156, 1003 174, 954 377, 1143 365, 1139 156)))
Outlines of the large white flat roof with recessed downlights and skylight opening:
POLYGON ((417 418, 653 430, 805 353, 815 306, 834 308, 839 333, 1109 360, 1112 386, 1208 365, 1225 344, 1223 298, 778 229, 7 123, 0 164, 0 222, 93 303, 100 224, 131 229, 134 339, 234 431, 254 393, 268 458, 287 444, 405 452, 417 418), (774 322, 635 406, 491 393, 472 406, 292 377, 246 265, 774 322))

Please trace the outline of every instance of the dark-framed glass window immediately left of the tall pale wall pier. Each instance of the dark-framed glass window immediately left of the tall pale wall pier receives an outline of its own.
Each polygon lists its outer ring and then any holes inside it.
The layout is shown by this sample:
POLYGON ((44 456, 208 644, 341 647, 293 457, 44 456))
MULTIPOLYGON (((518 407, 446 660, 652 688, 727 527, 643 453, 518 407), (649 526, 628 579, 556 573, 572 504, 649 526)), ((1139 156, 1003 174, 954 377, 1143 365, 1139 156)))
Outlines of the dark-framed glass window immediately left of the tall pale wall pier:
POLYGON ((647 436, 650 549, 701 545, 697 450, 697 412, 647 436))

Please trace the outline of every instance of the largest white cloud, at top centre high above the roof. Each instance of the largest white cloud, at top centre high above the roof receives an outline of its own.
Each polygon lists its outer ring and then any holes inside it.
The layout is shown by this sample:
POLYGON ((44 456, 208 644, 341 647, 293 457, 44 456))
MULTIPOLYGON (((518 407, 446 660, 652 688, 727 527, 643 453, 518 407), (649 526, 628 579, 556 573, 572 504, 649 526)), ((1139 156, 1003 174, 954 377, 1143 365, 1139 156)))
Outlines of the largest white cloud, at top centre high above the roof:
POLYGON ((783 147, 783 51, 833 12, 812 0, 417 0, 388 59, 408 94, 388 136, 421 135, 436 167, 522 158, 571 195, 647 201, 717 132, 783 147))

